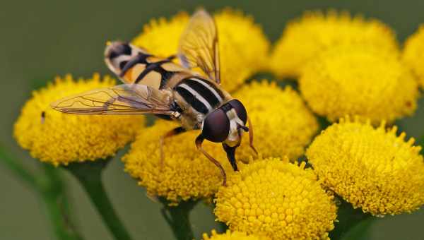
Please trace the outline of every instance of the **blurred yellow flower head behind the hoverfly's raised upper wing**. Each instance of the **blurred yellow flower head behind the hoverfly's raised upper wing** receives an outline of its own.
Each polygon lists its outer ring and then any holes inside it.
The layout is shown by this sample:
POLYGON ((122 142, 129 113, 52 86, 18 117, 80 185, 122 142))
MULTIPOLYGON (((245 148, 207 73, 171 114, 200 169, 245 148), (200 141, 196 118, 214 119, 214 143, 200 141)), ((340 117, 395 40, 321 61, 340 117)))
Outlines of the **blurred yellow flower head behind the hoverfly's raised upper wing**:
MULTIPOLYGON (((270 43, 261 26, 241 11, 225 8, 214 18, 218 28, 221 80, 223 87, 232 91, 264 68, 270 43)), ((176 54, 179 37, 188 20, 187 13, 179 13, 170 20, 151 20, 132 43, 158 56, 176 54)))

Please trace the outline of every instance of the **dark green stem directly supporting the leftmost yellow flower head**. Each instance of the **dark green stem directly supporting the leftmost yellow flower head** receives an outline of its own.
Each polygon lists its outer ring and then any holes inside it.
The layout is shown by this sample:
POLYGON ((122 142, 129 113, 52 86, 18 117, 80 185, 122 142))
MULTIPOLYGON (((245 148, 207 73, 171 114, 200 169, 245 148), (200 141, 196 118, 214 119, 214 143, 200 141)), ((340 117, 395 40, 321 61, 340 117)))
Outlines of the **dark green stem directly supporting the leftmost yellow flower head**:
POLYGON ((69 164, 65 169, 69 170, 86 190, 91 202, 95 205, 114 238, 130 240, 131 236, 119 220, 102 184, 102 170, 105 169, 108 162, 110 162, 110 159, 75 162, 69 164))

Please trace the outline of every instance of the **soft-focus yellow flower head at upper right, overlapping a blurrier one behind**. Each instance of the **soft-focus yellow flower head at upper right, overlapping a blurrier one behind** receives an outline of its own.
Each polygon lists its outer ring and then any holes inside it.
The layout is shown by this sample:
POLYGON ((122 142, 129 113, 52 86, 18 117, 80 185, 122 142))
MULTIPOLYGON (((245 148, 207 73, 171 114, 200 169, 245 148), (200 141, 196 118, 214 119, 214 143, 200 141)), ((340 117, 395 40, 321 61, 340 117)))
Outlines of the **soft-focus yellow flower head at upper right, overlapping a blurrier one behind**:
POLYGON ((397 54, 334 47, 310 61, 299 80, 312 111, 330 121, 349 115, 392 122, 416 109, 418 87, 397 54))

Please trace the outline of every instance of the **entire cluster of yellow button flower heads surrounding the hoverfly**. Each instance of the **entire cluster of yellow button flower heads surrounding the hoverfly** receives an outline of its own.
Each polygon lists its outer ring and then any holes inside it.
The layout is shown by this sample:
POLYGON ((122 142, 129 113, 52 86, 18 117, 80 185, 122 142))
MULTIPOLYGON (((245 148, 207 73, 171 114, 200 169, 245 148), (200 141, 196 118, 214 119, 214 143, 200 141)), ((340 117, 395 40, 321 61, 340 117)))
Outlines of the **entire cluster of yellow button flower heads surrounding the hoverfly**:
MULTIPOLYGON (((213 18, 223 89, 246 107, 259 152, 249 148, 244 133, 235 154, 240 171, 234 172, 222 145, 205 141, 202 147, 227 174, 226 186, 220 169, 196 149, 199 130, 161 144, 180 124, 156 120, 143 128, 143 116, 71 115, 49 107, 61 97, 115 84, 98 74, 57 78, 35 91, 14 126, 16 140, 33 157, 57 166, 114 155, 135 139, 122 158, 124 170, 150 196, 172 207, 183 200, 216 203, 216 218, 229 230, 204 234, 204 240, 329 239, 337 218, 334 196, 375 216, 424 205, 420 147, 385 125, 416 110, 418 82, 424 85, 423 27, 400 52, 394 31, 379 20, 307 12, 285 28, 269 63, 270 42, 252 17, 227 8, 213 18), (266 69, 298 82, 285 88, 269 80, 244 84, 266 69), (334 124, 315 136, 314 114, 334 124), (298 163, 304 154, 312 167, 298 163)), ((184 12, 152 20, 132 43, 158 56, 176 54, 188 21, 184 12)))

